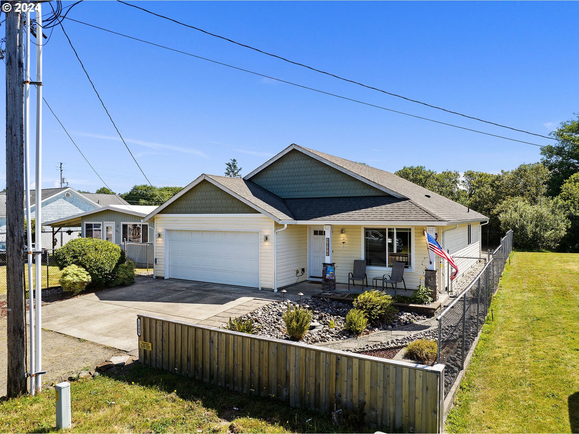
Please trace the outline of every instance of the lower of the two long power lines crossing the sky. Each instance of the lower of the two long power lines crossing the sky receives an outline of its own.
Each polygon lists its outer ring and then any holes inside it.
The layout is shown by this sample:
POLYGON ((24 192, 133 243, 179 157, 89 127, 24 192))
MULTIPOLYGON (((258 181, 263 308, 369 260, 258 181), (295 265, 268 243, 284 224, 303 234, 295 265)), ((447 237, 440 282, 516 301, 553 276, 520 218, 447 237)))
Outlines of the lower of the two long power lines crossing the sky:
MULTIPOLYGON (((120 1, 120 0, 119 0, 119 1, 120 1)), ((128 3, 127 3, 127 4, 128 4, 128 3)), ((105 31, 105 32, 109 32, 109 33, 112 33, 112 34, 115 34, 115 35, 123 36, 124 38, 133 39, 134 41, 144 42, 144 43, 147 43, 147 44, 149 44, 149 45, 153 45, 153 46, 156 46, 156 47, 164 48, 164 49, 166 49, 166 50, 170 50, 170 51, 175 52, 175 53, 186 54, 186 56, 195 57, 195 58, 198 58, 198 59, 200 59, 200 60, 205 60, 205 61, 208 61, 208 62, 212 62, 212 63, 214 63, 214 64, 218 64, 218 65, 222 65, 222 66, 225 66, 225 67, 228 67, 228 68, 232 68, 232 69, 237 69, 237 71, 248 72, 248 73, 251 73, 251 74, 254 74, 254 75, 263 77, 263 78, 268 78, 268 79, 271 79, 271 80, 276 80, 276 81, 281 82, 281 83, 286 83, 286 84, 291 84, 292 86, 301 87, 302 89, 312 90, 312 91, 314 91, 314 92, 318 92, 318 93, 321 93, 321 94, 330 95, 330 96, 336 97, 336 98, 341 98, 342 100, 357 102, 358 104, 363 104, 363 105, 371 106, 371 107, 378 108, 378 109, 381 109, 381 110, 386 110, 386 111, 389 111, 389 112, 398 113, 398 114, 400 114, 400 115, 415 117, 416 119, 427 120, 428 122, 434 122, 434 123, 441 124, 441 125, 446 125, 446 126, 449 126, 449 127, 460 128, 461 130, 472 131, 472 133, 479 133, 479 134, 489 135, 489 136, 491 136, 491 137, 497 137, 497 138, 501 138, 501 139, 505 139, 505 140, 510 140, 510 141, 513 141, 513 142, 519 142, 519 143, 526 144, 526 145, 538 146, 539 148, 547 148, 548 146, 551 146, 551 145, 538 145, 538 144, 536 144, 536 143, 526 142, 526 141, 523 141, 523 140, 514 139, 514 138, 510 138, 510 137, 505 137, 505 136, 503 136, 503 135, 492 134, 492 133, 485 133, 485 131, 479 131, 479 130, 474 130, 474 129, 472 129, 472 128, 461 127, 461 126, 459 126, 459 125, 450 124, 450 123, 447 123, 447 122, 442 122, 442 121, 439 121, 439 120, 430 119, 430 118, 428 118, 428 117, 412 115, 411 113, 401 112, 401 111, 398 111, 398 110, 386 108, 386 107, 384 107, 384 106, 380 106, 380 105, 376 105, 376 104, 371 104, 371 103, 369 103, 369 102, 364 102, 364 101, 360 101, 360 100, 354 100, 353 98, 348 98, 348 97, 345 97, 345 96, 343 96, 343 95, 338 95, 338 94, 326 92, 326 91, 324 91, 324 90, 315 89, 315 88, 309 87, 309 86, 303 86, 302 84, 298 84, 298 83, 294 83, 294 82, 289 82, 289 81, 287 81, 287 80, 282 80, 282 79, 275 78, 275 77, 272 77, 272 76, 269 76, 269 75, 265 75, 265 74, 262 74, 262 73, 259 73, 259 72, 250 71, 249 69, 239 68, 239 67, 235 67, 235 66, 233 66, 233 65, 229 65, 229 64, 226 64, 226 63, 223 63, 223 62, 219 62, 219 61, 217 61, 217 60, 212 60, 212 59, 207 58, 207 57, 197 56, 196 54, 187 53, 187 52, 184 52, 184 51, 181 51, 181 50, 177 50, 177 49, 174 49, 174 48, 171 48, 171 47, 167 47, 167 46, 164 46, 164 45, 160 45, 160 44, 157 44, 157 43, 154 43, 154 42, 145 41, 144 39, 135 38, 134 36, 125 35, 125 34, 122 34, 122 33, 119 33, 119 32, 115 32, 115 31, 112 31, 112 30, 108 30, 108 29, 103 28, 103 27, 99 27, 98 25, 89 24, 89 23, 84 23, 83 21, 74 20, 74 19, 68 18, 68 17, 67 17, 67 20, 74 21, 75 23, 85 24, 85 25, 88 25, 89 27, 94 27, 94 28, 97 28, 97 29, 99 29, 99 30, 103 30, 103 31, 105 31)), ((548 137, 548 138, 550 138, 550 137, 548 137)), ((574 154, 579 155, 579 152, 574 152, 574 151, 571 151, 571 150, 564 150, 564 152, 574 153, 574 154)))

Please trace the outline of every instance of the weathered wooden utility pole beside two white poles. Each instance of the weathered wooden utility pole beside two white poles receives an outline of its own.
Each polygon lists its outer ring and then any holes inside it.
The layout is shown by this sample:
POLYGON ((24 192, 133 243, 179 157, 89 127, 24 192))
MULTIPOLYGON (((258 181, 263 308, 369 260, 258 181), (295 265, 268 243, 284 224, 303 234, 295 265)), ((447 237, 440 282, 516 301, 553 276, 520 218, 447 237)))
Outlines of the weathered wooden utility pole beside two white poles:
POLYGON ((27 392, 24 306, 24 65, 20 12, 6 13, 8 396, 27 392))

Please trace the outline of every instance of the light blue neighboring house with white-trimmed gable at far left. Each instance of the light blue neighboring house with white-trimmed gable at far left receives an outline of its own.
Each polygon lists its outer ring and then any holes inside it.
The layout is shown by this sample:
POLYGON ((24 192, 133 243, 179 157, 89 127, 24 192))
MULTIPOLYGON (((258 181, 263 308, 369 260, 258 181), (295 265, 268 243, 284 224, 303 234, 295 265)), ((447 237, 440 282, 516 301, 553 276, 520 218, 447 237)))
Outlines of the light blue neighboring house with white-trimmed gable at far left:
MULTIPOLYGON (((30 192, 31 211, 34 218, 36 191, 30 192)), ((42 189, 42 220, 54 220, 79 212, 106 207, 107 205, 128 205, 116 194, 79 193, 72 187, 42 189)), ((26 210, 24 203, 23 209, 26 210)), ((6 231, 6 192, 0 193, 0 232, 6 231)))

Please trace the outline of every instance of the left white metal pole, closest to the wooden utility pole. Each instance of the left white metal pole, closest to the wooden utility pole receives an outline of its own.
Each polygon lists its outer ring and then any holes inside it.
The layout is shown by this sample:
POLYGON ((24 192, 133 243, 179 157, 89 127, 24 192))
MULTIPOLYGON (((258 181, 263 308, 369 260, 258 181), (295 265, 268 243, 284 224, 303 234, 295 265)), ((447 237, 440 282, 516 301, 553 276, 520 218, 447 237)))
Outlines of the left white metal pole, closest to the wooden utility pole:
POLYGON ((28 260, 28 322, 30 323, 30 393, 34 395, 34 277, 32 275, 32 214, 30 211, 30 12, 26 13, 26 53, 24 57, 24 182, 26 190, 26 233, 28 260))

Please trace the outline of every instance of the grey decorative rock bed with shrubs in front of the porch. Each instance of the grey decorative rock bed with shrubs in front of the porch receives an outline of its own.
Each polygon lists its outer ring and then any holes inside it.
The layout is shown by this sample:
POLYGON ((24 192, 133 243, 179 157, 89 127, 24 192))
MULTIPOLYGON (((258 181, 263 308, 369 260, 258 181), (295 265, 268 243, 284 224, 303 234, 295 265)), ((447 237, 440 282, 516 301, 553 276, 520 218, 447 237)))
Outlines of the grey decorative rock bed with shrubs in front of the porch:
MULTIPOLYGON (((292 301, 283 303, 274 301, 253 312, 243 315, 243 319, 253 319, 259 325, 256 334, 261 336, 270 336, 277 339, 289 339, 285 333, 285 323, 282 318, 283 312, 287 310, 288 304, 298 304, 292 301)), ((328 341, 336 341, 356 336, 353 333, 344 330, 346 323, 346 314, 351 309, 351 303, 328 300, 325 298, 307 297, 302 300, 302 306, 312 311, 312 323, 310 331, 306 334, 303 341, 307 344, 318 344, 328 341), (335 328, 329 328, 330 321, 334 321, 335 328)), ((416 321, 425 319, 420 315, 410 312, 398 312, 396 319, 386 325, 379 327, 368 327, 368 332, 378 332, 380 330, 391 330, 395 327, 408 325, 416 321)))

